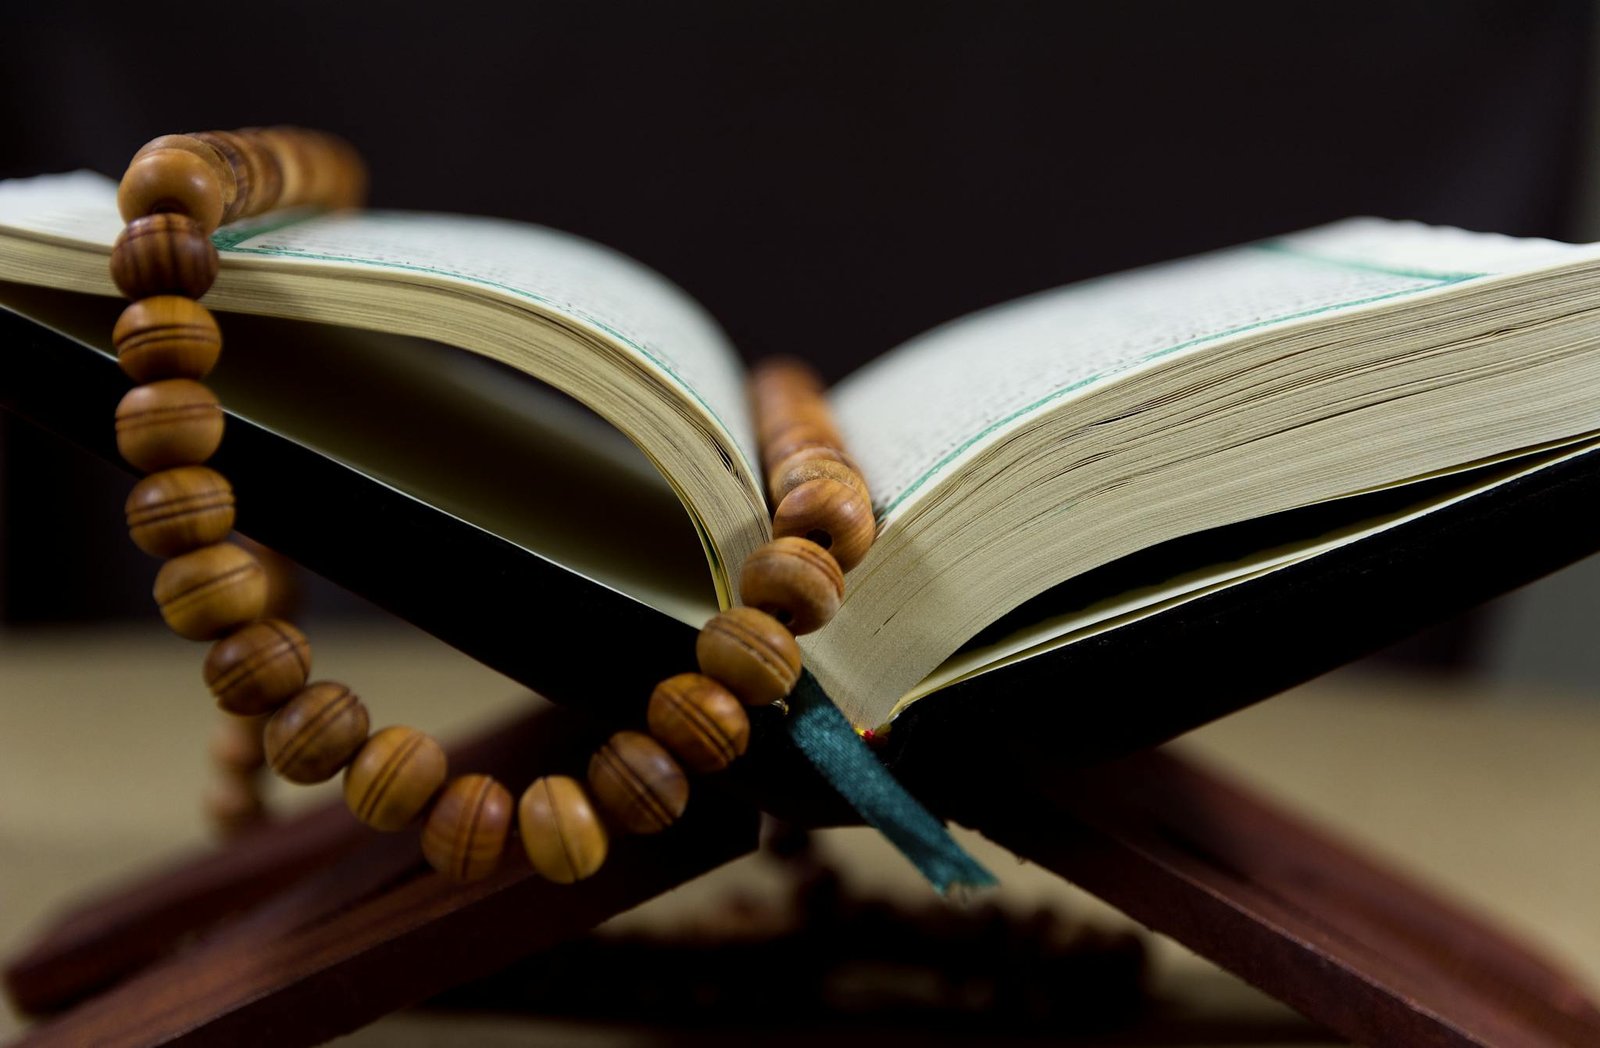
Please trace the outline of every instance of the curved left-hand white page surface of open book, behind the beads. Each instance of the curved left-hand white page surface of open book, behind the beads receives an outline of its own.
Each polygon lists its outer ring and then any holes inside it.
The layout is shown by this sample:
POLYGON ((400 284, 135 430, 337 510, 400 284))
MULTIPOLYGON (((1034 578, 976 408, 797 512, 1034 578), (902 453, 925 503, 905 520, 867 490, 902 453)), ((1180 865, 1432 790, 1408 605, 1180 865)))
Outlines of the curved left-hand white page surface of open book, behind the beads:
MULTIPOLYGON (((0 227, 109 248, 122 226, 109 178, 77 171, 0 182, 0 227)), ((669 376, 757 472, 744 366, 728 338, 680 288, 618 251, 523 222, 386 211, 269 214, 226 226, 213 242, 224 266, 229 256, 270 256, 462 282, 552 309, 669 376)))

